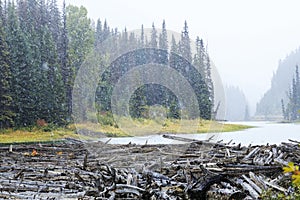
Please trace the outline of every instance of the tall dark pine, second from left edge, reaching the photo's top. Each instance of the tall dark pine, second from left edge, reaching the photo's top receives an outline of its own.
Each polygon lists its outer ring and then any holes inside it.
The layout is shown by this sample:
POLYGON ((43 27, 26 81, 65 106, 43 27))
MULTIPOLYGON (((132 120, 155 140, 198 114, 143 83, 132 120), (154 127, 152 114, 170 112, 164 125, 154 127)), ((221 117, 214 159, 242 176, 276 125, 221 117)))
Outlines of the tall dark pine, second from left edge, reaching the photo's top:
MULTIPOLYGON (((25 2, 22 2, 25 4, 25 2)), ((21 9, 21 8, 19 8, 21 9)), ((10 62, 12 71, 12 97, 13 110, 16 114, 16 126, 33 124, 32 111, 35 102, 32 97, 34 77, 32 52, 30 51, 27 35, 21 30, 16 8, 13 3, 8 4, 7 17, 7 43, 10 49, 10 62)), ((24 25, 24 24, 23 24, 24 25)), ((25 29, 25 27, 23 27, 25 29)))

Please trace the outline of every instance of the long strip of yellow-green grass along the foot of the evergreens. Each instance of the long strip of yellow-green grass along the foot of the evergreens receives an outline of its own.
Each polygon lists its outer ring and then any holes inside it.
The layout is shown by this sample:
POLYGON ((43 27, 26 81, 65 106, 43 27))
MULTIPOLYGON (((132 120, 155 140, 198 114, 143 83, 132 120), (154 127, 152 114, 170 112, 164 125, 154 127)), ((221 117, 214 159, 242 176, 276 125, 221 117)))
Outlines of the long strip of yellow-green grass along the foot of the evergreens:
POLYGON ((43 131, 42 128, 32 130, 6 129, 0 131, 0 143, 51 142, 64 138, 88 140, 107 137, 130 137, 164 133, 218 133, 238 131, 250 126, 222 124, 208 120, 150 120, 128 118, 118 119, 118 125, 100 125, 99 123, 72 124, 66 128, 43 131))

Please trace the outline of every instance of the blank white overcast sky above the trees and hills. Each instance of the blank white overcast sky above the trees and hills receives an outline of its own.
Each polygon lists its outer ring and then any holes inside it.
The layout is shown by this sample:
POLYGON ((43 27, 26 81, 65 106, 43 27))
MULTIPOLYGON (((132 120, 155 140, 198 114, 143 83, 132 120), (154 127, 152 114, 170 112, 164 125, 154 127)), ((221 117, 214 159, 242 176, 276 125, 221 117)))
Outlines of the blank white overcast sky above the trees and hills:
MULTIPOLYGON (((62 1, 62 0, 60 0, 62 1)), ((300 46, 299 0, 66 0, 83 5, 94 21, 111 27, 160 28, 180 32, 187 20, 190 36, 208 43, 224 85, 239 86, 251 110, 270 87, 279 59, 300 46)))

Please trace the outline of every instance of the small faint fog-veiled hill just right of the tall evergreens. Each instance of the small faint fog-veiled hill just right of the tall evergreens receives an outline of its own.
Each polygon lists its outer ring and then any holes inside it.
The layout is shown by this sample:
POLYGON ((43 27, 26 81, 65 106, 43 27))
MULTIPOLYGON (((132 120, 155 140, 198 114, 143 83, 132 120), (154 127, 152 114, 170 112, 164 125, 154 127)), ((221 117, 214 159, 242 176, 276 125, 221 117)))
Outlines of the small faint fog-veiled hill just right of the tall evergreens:
POLYGON ((226 95, 226 115, 229 121, 243 121, 246 117, 247 100, 243 91, 238 87, 227 86, 226 95))

